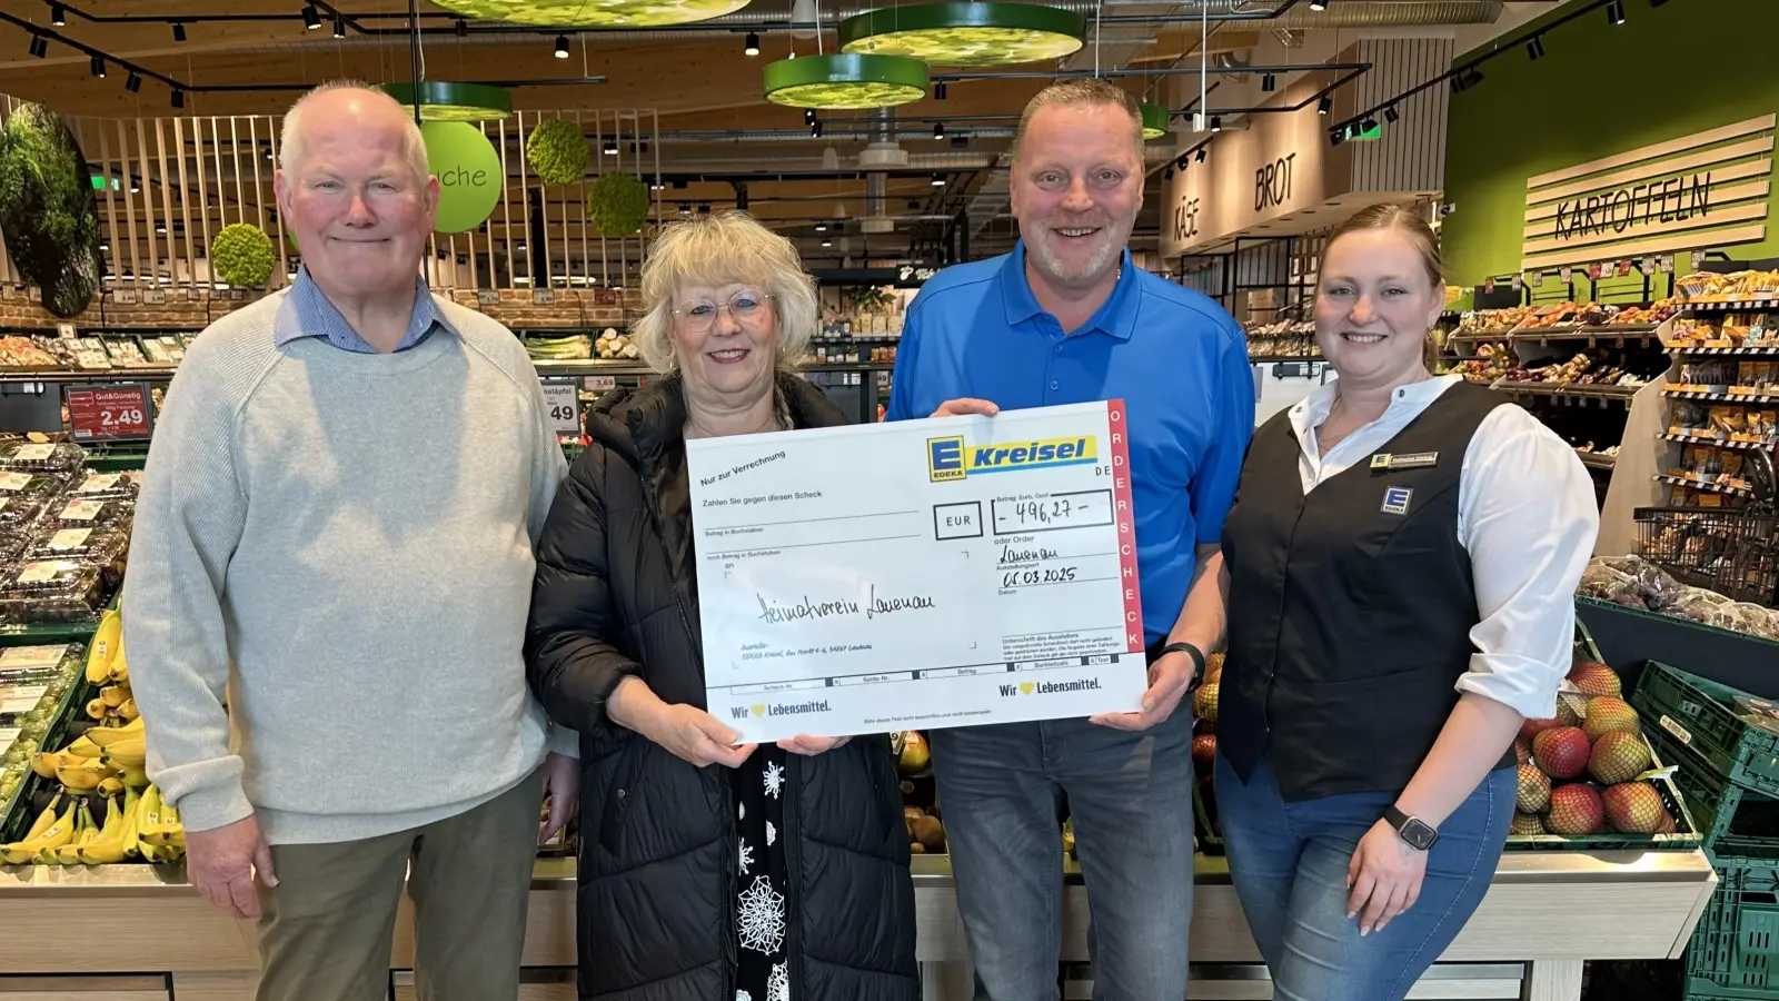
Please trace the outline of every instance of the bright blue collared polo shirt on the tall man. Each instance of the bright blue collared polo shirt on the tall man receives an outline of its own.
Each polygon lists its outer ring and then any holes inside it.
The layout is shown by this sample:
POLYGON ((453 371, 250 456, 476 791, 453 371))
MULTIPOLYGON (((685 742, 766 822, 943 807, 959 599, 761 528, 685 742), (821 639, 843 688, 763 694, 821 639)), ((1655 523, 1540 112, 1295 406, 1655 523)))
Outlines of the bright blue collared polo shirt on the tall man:
POLYGON ((904 319, 886 419, 927 417, 957 397, 1002 410, 1123 399, 1153 645, 1179 618, 1195 545, 1222 538, 1254 433, 1254 374, 1228 312, 1135 267, 1128 249, 1123 260, 1112 296, 1071 335, 1032 296, 1025 240, 936 274, 904 319))

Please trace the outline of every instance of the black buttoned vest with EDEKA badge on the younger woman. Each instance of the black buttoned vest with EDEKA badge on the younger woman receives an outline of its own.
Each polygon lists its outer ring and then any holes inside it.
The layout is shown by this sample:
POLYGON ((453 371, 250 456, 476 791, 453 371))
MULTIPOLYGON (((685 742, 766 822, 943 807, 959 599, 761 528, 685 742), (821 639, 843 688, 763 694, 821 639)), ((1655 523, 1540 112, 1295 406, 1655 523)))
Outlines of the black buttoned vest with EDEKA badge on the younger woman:
POLYGON ((1229 654, 1217 698, 1217 750, 1244 782, 1261 755, 1288 802, 1397 791, 1420 769, 1475 652, 1459 476, 1477 426, 1503 403, 1457 383, 1308 497, 1290 411, 1254 433, 1224 522, 1229 654))

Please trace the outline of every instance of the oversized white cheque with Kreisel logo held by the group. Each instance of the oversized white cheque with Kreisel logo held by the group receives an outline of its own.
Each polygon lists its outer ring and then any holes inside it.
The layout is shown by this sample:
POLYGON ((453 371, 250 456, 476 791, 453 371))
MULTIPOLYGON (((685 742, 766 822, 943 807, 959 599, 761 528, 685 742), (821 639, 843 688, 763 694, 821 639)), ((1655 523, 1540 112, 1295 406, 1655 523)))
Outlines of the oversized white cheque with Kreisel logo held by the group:
POLYGON ((742 741, 1133 712, 1124 404, 687 442, 708 709, 742 741))

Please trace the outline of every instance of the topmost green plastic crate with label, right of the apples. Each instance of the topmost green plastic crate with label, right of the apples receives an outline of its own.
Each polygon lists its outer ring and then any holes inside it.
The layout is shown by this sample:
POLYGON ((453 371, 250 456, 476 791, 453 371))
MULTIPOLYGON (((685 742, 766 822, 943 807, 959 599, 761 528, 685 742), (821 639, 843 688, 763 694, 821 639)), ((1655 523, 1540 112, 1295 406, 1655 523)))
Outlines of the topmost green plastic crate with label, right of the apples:
POLYGON ((1631 705, 1729 782, 1779 796, 1779 734, 1743 723, 1738 696, 1749 693, 1649 661, 1631 705))

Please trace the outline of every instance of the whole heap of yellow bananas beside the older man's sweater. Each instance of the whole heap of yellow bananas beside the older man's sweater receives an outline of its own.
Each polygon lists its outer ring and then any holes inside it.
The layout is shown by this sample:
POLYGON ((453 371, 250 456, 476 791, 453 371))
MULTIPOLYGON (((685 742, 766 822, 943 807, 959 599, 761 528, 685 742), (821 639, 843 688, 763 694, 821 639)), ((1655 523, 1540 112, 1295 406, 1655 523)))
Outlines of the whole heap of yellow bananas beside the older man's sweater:
POLYGON ((68 721, 60 750, 30 752, 37 777, 28 803, 34 819, 21 837, 0 844, 0 862, 176 862, 185 853, 185 828, 148 780, 148 746, 130 693, 117 611, 100 622, 80 680, 96 695, 80 707, 84 720, 68 721))

